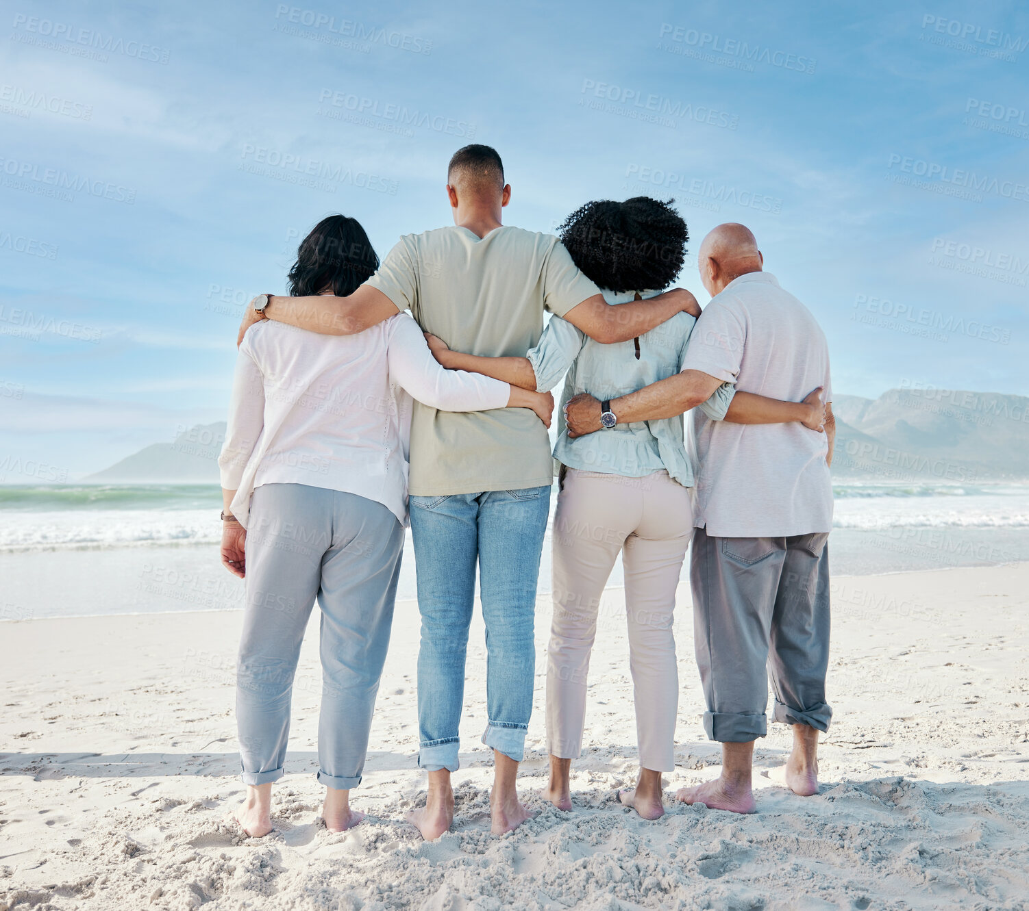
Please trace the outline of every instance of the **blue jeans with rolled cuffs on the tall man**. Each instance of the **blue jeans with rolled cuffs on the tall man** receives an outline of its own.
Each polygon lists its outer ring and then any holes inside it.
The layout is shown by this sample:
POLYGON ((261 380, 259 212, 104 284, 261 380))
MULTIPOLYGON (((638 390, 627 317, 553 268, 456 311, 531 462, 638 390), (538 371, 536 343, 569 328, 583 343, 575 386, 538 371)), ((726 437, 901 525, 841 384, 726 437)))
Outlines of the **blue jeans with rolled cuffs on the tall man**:
POLYGON ((480 566, 486 623, 483 742, 516 762, 532 715, 533 627, 549 487, 411 498, 422 645, 418 764, 457 771, 468 626, 480 566))

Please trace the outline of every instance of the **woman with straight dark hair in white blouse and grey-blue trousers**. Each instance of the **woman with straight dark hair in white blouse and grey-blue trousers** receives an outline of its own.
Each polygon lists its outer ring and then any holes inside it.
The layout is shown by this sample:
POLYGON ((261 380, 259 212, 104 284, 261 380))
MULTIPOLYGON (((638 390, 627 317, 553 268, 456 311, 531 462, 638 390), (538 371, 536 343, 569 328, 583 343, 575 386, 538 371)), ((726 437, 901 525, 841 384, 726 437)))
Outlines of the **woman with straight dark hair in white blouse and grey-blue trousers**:
MULTIPOLYGON (((353 292, 379 257, 361 225, 331 215, 305 238, 294 296, 353 292)), ((355 825, 368 728, 393 620, 407 523, 413 397, 433 408, 531 408, 549 426, 554 399, 443 370, 406 314, 356 335, 263 320, 240 345, 225 444, 221 561, 246 579, 237 721, 250 836, 272 831, 300 642, 321 608, 318 780, 331 832, 355 825)))

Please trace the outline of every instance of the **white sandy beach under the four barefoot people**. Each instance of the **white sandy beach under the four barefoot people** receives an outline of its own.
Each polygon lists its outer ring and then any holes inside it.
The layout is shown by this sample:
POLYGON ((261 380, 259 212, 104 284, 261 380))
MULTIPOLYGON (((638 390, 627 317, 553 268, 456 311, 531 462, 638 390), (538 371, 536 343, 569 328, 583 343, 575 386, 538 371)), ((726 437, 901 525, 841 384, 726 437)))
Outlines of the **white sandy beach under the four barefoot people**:
POLYGON ((425 844, 402 822, 415 764, 414 605, 398 606, 371 752, 350 833, 319 825, 312 774, 320 671, 309 631, 273 835, 224 819, 235 753, 239 612, 0 624, 0 911, 12 908, 1022 908, 1029 900, 1029 563, 833 584, 821 793, 777 787, 788 731, 758 743, 758 812, 671 801, 717 773, 701 727, 688 590, 669 813, 644 823, 615 790, 635 775, 622 592, 594 653, 575 811, 545 782, 542 646, 523 790, 539 814, 489 834, 485 650, 472 629, 455 831, 425 844))

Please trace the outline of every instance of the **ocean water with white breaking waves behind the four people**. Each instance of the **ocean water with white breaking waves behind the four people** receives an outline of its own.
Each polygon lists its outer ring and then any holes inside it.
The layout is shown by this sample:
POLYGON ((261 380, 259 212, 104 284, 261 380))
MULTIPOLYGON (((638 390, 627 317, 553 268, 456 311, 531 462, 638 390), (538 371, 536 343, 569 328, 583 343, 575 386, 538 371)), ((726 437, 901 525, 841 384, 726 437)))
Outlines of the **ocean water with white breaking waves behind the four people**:
MULTIPOLYGON (((1029 559, 1029 483, 848 482, 835 496, 836 575, 1029 559)), ((0 486, 0 619, 239 607, 220 508, 208 484, 0 486)), ((549 578, 547 542, 540 591, 549 578)), ((415 596, 410 536, 398 596, 415 596)))

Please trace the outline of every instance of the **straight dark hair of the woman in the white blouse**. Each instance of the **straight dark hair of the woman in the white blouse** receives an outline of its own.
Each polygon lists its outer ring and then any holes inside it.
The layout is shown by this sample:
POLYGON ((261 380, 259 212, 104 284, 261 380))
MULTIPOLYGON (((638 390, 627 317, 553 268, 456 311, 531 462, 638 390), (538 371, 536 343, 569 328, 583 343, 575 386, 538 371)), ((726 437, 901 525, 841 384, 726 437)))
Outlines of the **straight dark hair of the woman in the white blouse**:
POLYGON ((377 268, 379 257, 361 223, 346 215, 329 215, 300 243, 289 270, 289 293, 306 297, 331 288, 336 297, 346 297, 377 268))

